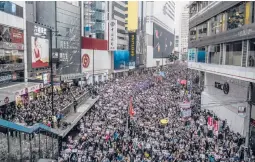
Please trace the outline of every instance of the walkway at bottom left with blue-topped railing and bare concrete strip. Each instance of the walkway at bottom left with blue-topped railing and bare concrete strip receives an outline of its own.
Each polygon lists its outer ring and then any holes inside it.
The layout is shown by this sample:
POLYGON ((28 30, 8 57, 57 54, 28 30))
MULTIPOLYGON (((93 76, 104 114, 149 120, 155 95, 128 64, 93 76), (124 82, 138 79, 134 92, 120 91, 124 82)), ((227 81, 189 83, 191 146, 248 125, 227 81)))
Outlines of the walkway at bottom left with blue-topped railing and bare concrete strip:
POLYGON ((90 97, 79 103, 77 112, 70 112, 63 119, 70 123, 65 129, 53 129, 43 124, 27 127, 0 119, 0 162, 57 160, 62 138, 98 99, 90 97))

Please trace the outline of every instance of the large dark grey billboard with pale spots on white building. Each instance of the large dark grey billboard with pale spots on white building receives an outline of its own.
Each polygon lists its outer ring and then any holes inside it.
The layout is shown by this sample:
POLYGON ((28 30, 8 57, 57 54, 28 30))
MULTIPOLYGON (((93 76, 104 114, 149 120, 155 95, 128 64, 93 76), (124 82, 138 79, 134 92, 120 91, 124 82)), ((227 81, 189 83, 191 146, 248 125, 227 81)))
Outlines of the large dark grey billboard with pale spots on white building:
POLYGON ((174 34, 153 23, 153 58, 167 58, 174 49, 174 34))

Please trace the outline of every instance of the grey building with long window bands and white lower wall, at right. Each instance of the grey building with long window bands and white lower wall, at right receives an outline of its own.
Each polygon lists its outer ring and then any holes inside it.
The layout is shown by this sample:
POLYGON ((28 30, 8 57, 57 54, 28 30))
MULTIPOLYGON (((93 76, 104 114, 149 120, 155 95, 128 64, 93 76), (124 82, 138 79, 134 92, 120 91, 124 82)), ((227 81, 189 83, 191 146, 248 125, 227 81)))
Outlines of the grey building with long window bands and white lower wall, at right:
MULTIPOLYGON (((240 111, 249 112, 247 93, 255 82, 254 5, 252 1, 193 1, 189 5, 188 67, 200 71, 202 109, 227 119, 230 129, 241 135, 248 132, 249 115, 240 111)), ((254 134, 255 128, 251 129, 254 134)))

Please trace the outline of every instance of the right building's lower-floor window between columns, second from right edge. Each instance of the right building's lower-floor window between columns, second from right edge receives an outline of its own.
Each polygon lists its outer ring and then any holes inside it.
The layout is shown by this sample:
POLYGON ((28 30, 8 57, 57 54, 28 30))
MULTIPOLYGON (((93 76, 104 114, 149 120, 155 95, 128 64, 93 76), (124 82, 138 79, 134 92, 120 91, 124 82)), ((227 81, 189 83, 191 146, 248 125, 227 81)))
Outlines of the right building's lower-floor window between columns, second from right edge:
POLYGON ((226 44, 226 65, 241 66, 242 41, 226 44))

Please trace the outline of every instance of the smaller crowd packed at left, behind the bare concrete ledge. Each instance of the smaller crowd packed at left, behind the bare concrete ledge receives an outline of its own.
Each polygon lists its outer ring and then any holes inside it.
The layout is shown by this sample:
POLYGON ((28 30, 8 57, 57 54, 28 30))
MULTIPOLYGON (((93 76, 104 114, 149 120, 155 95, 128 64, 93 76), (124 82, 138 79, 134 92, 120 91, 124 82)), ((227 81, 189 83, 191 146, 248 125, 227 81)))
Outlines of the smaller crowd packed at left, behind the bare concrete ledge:
POLYGON ((23 100, 23 105, 7 105, 0 112, 0 117, 16 123, 24 123, 31 126, 35 123, 43 123, 49 127, 56 127, 64 114, 61 112, 74 102, 75 99, 88 91, 87 88, 78 86, 67 86, 62 90, 56 89, 53 96, 51 92, 35 97, 33 100, 23 100), (52 114, 53 113, 53 114, 52 114))

